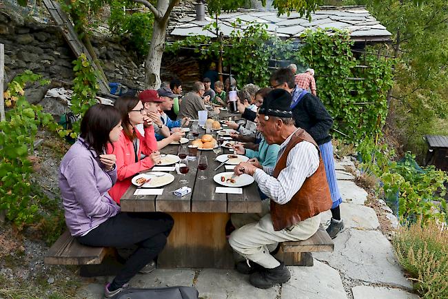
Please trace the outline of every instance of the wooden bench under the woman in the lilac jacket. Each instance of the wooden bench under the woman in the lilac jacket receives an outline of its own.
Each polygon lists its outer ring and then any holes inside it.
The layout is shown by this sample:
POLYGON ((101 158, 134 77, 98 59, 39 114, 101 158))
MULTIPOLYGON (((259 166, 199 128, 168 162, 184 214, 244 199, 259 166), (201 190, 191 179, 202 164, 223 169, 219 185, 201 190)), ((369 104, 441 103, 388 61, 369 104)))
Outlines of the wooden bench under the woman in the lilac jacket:
POLYGON ((99 265, 108 253, 107 247, 81 245, 65 231, 50 247, 43 261, 45 265, 99 265))

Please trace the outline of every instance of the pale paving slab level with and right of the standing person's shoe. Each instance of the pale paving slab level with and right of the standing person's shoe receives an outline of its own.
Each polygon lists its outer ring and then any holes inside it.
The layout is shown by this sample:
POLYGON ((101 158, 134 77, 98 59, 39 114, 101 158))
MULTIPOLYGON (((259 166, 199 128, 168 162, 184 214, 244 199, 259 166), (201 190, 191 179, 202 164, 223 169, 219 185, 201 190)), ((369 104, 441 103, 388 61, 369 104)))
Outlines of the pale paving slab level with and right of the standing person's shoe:
MULTIPOLYGON (((375 210, 364 205, 356 205, 354 203, 340 204, 340 218, 344 220, 345 229, 378 229, 380 223, 376 216, 375 210)), ((332 212, 327 211, 320 214, 320 223, 327 223, 332 218, 332 212)))

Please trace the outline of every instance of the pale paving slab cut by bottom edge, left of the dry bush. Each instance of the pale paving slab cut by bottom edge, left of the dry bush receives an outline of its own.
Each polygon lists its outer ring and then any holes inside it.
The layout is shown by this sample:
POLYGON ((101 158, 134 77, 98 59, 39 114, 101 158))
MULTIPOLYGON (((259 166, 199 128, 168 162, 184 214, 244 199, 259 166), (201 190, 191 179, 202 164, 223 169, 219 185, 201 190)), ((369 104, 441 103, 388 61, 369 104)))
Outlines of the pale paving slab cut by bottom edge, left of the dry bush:
POLYGON ((403 289, 391 289, 387 287, 367 287, 360 285, 352 287, 354 299, 418 299, 415 293, 408 293, 403 289))

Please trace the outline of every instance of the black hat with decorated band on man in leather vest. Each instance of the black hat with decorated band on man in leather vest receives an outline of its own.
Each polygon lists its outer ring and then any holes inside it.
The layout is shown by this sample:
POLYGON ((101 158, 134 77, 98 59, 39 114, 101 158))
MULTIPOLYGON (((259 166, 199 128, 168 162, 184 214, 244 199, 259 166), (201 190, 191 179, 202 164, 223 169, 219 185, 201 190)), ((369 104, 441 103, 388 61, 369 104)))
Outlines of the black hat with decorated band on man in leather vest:
POLYGON ((292 96, 289 92, 277 88, 267 94, 258 114, 290 118, 292 117, 291 101, 292 96))

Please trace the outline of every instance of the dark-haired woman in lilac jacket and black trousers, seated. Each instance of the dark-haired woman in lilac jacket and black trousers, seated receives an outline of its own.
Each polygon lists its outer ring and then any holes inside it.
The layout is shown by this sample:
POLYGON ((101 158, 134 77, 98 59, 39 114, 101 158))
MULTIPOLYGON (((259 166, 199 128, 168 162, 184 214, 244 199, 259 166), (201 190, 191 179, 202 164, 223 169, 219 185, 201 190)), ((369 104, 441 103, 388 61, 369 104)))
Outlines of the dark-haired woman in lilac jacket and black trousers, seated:
MULTIPOLYGON (((139 112, 140 113, 140 112, 139 112)), ((125 213, 108 191, 116 181, 115 155, 105 147, 119 141, 121 114, 110 105, 96 104, 85 112, 78 140, 63 156, 59 187, 65 223, 79 243, 94 247, 135 245, 134 253, 105 286, 105 298, 127 287, 138 272, 165 247, 173 219, 164 213, 125 213)))

